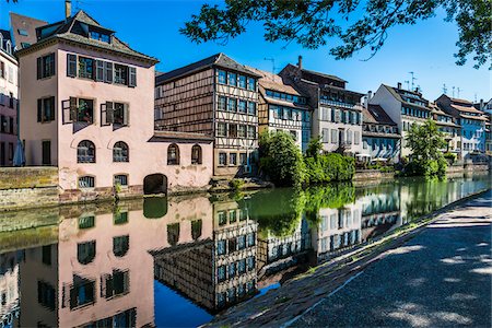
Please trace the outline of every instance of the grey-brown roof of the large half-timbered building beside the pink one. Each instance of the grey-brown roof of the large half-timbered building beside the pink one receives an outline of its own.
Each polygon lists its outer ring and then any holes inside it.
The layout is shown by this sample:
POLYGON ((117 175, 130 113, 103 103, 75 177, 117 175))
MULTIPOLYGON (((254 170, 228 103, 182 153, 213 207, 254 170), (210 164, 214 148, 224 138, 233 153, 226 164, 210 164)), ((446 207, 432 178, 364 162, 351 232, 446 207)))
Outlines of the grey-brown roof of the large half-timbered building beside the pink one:
POLYGON ((229 70, 234 70, 239 73, 248 74, 251 77, 260 78, 261 75, 253 72, 249 68, 246 66, 238 63, 231 57, 226 56, 223 52, 215 54, 213 56, 207 57, 204 59, 201 59, 199 61, 192 62, 190 65, 184 66, 181 68, 172 70, 169 72, 166 72, 155 79, 155 84, 160 85, 164 82, 168 82, 171 80, 191 74, 194 72, 198 72, 201 70, 204 70, 207 68, 212 67, 220 67, 229 70))

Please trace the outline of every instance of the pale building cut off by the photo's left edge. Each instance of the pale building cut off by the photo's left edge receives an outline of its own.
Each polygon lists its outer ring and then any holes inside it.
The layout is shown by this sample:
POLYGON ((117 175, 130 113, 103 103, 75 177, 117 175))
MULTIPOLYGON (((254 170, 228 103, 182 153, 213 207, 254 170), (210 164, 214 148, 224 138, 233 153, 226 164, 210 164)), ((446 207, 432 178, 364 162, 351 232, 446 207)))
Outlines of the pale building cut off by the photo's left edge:
POLYGON ((12 166, 17 141, 19 65, 9 31, 0 30, 0 166, 12 166))

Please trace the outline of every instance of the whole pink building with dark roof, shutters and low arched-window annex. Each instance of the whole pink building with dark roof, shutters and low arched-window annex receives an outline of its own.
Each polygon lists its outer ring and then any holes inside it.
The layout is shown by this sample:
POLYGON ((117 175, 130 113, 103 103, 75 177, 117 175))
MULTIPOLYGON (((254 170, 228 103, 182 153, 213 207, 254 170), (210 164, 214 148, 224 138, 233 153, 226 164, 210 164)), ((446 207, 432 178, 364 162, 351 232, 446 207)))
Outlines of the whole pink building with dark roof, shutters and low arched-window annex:
POLYGON ((154 132, 154 66, 79 11, 17 51, 27 165, 59 168, 62 202, 204 188, 213 140, 154 132))

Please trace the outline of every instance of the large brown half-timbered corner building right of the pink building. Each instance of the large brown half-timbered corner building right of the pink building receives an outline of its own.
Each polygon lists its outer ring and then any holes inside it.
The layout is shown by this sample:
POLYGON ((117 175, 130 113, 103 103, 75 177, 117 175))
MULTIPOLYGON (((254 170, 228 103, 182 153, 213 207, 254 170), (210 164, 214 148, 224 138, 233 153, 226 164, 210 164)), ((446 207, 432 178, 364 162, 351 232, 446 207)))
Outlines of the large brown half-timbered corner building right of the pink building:
POLYGON ((258 148, 258 78, 224 54, 155 78, 157 129, 213 138, 213 174, 255 171, 258 148))

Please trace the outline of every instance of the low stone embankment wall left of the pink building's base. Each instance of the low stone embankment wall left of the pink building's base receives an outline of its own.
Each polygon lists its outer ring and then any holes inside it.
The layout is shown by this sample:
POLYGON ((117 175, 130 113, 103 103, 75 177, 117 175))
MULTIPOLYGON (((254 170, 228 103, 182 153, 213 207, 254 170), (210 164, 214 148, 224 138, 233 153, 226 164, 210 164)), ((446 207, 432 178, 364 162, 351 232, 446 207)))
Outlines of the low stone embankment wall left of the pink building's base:
POLYGON ((0 167, 0 211, 58 201, 57 167, 0 167))

